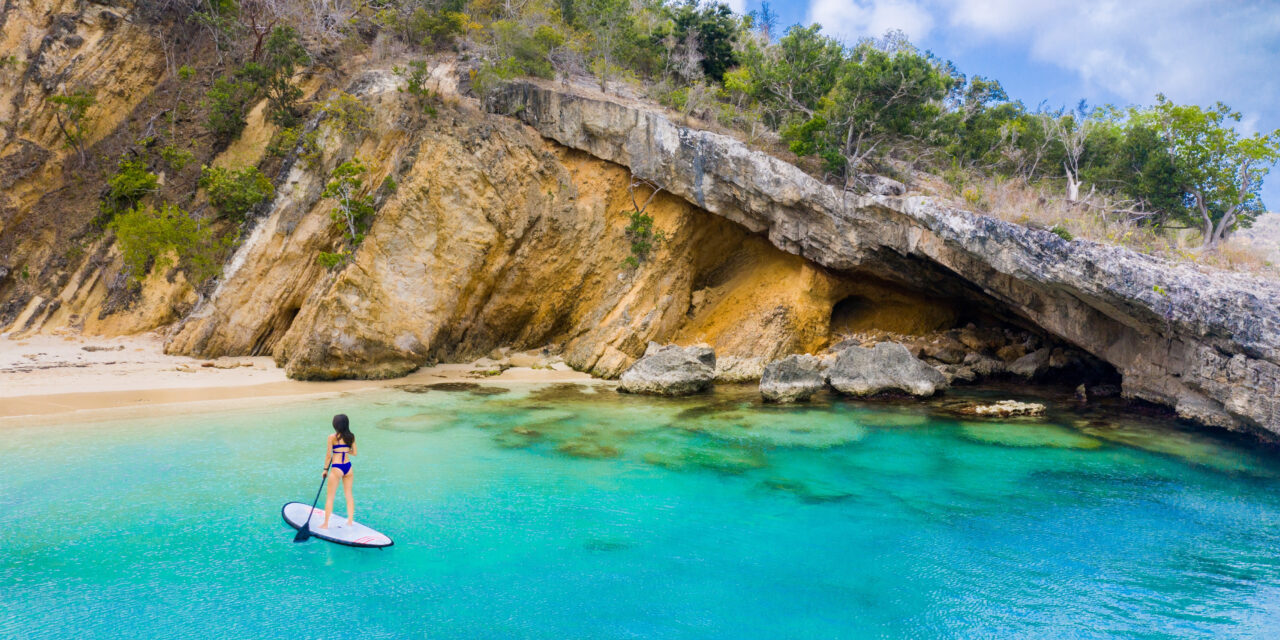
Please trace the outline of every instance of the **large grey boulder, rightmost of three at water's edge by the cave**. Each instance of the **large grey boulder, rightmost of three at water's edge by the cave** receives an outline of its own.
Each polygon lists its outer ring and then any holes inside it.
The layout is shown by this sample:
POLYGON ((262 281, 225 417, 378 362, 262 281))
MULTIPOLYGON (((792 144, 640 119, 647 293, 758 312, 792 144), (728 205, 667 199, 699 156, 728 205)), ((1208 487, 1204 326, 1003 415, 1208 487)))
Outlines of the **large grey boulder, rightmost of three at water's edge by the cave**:
POLYGON ((827 370, 827 381, 847 396, 874 396, 901 390, 911 396, 933 396, 947 388, 947 379, 937 369, 911 356, 896 342, 882 342, 872 348, 850 347, 827 370))

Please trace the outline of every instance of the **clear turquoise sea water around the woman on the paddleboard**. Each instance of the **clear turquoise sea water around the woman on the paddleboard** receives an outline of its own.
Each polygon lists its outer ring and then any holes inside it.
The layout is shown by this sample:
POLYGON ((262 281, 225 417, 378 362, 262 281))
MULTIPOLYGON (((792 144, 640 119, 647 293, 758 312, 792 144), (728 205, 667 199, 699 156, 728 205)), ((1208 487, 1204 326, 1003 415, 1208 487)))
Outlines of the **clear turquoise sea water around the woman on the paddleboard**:
POLYGON ((10 420, 0 637, 1275 637, 1280 458, 1055 407, 509 387, 10 420), (389 549, 280 520, 337 411, 389 549))

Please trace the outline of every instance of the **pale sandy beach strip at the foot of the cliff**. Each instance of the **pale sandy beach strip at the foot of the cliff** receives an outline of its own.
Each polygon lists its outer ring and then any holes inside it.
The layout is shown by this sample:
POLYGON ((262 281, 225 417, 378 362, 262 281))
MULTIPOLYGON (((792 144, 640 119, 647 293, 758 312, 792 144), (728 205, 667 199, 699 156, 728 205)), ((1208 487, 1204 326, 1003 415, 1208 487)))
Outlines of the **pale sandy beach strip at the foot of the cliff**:
POLYGON ((159 334, 0 338, 0 417, 209 401, 340 393, 440 381, 591 381, 568 370, 472 364, 422 367, 394 380, 291 380, 270 357, 201 360, 164 353, 159 334), (500 372, 497 370, 500 369, 500 372))

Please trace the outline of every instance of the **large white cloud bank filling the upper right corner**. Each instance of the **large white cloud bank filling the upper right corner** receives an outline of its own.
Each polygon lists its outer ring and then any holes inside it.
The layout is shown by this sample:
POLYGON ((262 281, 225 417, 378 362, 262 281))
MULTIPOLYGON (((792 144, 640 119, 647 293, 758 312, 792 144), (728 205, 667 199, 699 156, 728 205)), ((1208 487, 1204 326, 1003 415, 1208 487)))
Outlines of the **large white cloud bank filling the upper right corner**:
POLYGON ((1258 91, 1280 97, 1271 70, 1280 12, 1265 3, 959 0, 933 10, 948 24, 948 44, 1020 45, 1087 88, 1130 102, 1151 102, 1156 92, 1184 102, 1258 91))

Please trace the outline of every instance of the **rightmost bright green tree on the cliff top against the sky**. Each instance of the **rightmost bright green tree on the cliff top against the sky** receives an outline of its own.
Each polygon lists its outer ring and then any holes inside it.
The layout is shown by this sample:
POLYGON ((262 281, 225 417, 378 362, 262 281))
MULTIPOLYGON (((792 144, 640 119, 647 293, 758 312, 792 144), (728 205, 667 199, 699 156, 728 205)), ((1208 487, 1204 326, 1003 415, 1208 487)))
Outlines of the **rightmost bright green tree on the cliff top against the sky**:
POLYGON ((1138 122, 1161 132, 1183 187, 1192 195, 1206 250, 1216 248, 1265 211, 1262 180, 1280 160, 1280 129, 1242 136, 1234 125, 1240 114, 1222 102, 1202 109, 1175 105, 1164 95, 1138 114, 1138 122))

